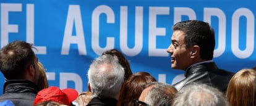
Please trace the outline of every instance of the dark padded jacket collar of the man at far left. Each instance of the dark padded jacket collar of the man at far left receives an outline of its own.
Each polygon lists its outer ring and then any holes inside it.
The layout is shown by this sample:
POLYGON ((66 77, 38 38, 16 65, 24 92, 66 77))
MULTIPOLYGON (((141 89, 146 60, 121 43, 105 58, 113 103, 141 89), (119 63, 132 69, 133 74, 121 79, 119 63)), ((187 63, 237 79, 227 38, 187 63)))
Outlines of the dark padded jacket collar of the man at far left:
POLYGON ((7 80, 4 83, 4 93, 9 92, 34 92, 37 94, 38 87, 28 80, 7 80))

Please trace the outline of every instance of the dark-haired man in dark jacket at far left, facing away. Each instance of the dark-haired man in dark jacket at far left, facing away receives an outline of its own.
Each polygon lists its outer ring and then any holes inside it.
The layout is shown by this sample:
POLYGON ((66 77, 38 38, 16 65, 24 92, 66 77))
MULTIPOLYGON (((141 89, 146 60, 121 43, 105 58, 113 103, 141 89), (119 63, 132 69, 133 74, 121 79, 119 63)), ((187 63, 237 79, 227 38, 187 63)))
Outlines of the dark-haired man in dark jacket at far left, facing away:
POLYGON ((16 106, 33 105, 40 76, 38 58, 32 44, 14 41, 0 51, 0 70, 6 78, 0 101, 11 100, 16 106))

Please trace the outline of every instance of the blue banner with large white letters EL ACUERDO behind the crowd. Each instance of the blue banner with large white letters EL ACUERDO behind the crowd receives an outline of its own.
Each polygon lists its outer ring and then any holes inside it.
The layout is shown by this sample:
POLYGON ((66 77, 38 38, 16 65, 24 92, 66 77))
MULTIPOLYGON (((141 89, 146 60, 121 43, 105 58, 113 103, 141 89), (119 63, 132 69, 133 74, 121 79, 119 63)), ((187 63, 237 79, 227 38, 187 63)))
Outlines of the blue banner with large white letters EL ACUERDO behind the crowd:
POLYGON ((147 71, 158 81, 173 84, 184 71, 171 69, 166 49, 171 27, 182 20, 203 20, 215 29, 213 60, 219 68, 236 72, 256 67, 255 1, 1 0, 0 4, 0 46, 15 39, 33 43, 47 69, 49 86, 61 89, 87 91, 90 63, 109 49, 121 51, 133 73, 147 71))

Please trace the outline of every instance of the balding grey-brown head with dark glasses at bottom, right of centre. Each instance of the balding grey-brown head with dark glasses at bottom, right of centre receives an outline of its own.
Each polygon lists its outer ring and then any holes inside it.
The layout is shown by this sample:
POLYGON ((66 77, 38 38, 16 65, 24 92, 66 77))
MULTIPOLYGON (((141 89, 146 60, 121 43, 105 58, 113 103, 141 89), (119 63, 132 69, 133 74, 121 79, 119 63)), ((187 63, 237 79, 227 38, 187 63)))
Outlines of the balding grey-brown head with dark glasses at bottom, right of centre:
POLYGON ((150 91, 148 91, 144 102, 154 106, 171 105, 176 93, 177 89, 174 88, 174 86, 164 83, 155 83, 150 91))

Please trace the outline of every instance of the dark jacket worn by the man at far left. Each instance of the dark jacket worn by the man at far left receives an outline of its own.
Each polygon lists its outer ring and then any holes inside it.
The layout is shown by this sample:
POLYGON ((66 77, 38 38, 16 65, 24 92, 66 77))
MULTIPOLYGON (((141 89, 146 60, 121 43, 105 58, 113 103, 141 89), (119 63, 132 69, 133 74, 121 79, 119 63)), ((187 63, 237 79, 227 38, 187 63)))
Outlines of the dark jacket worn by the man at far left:
POLYGON ((31 81, 8 80, 4 83, 4 94, 0 96, 0 101, 11 100, 15 106, 32 106, 37 92, 37 86, 31 81))

